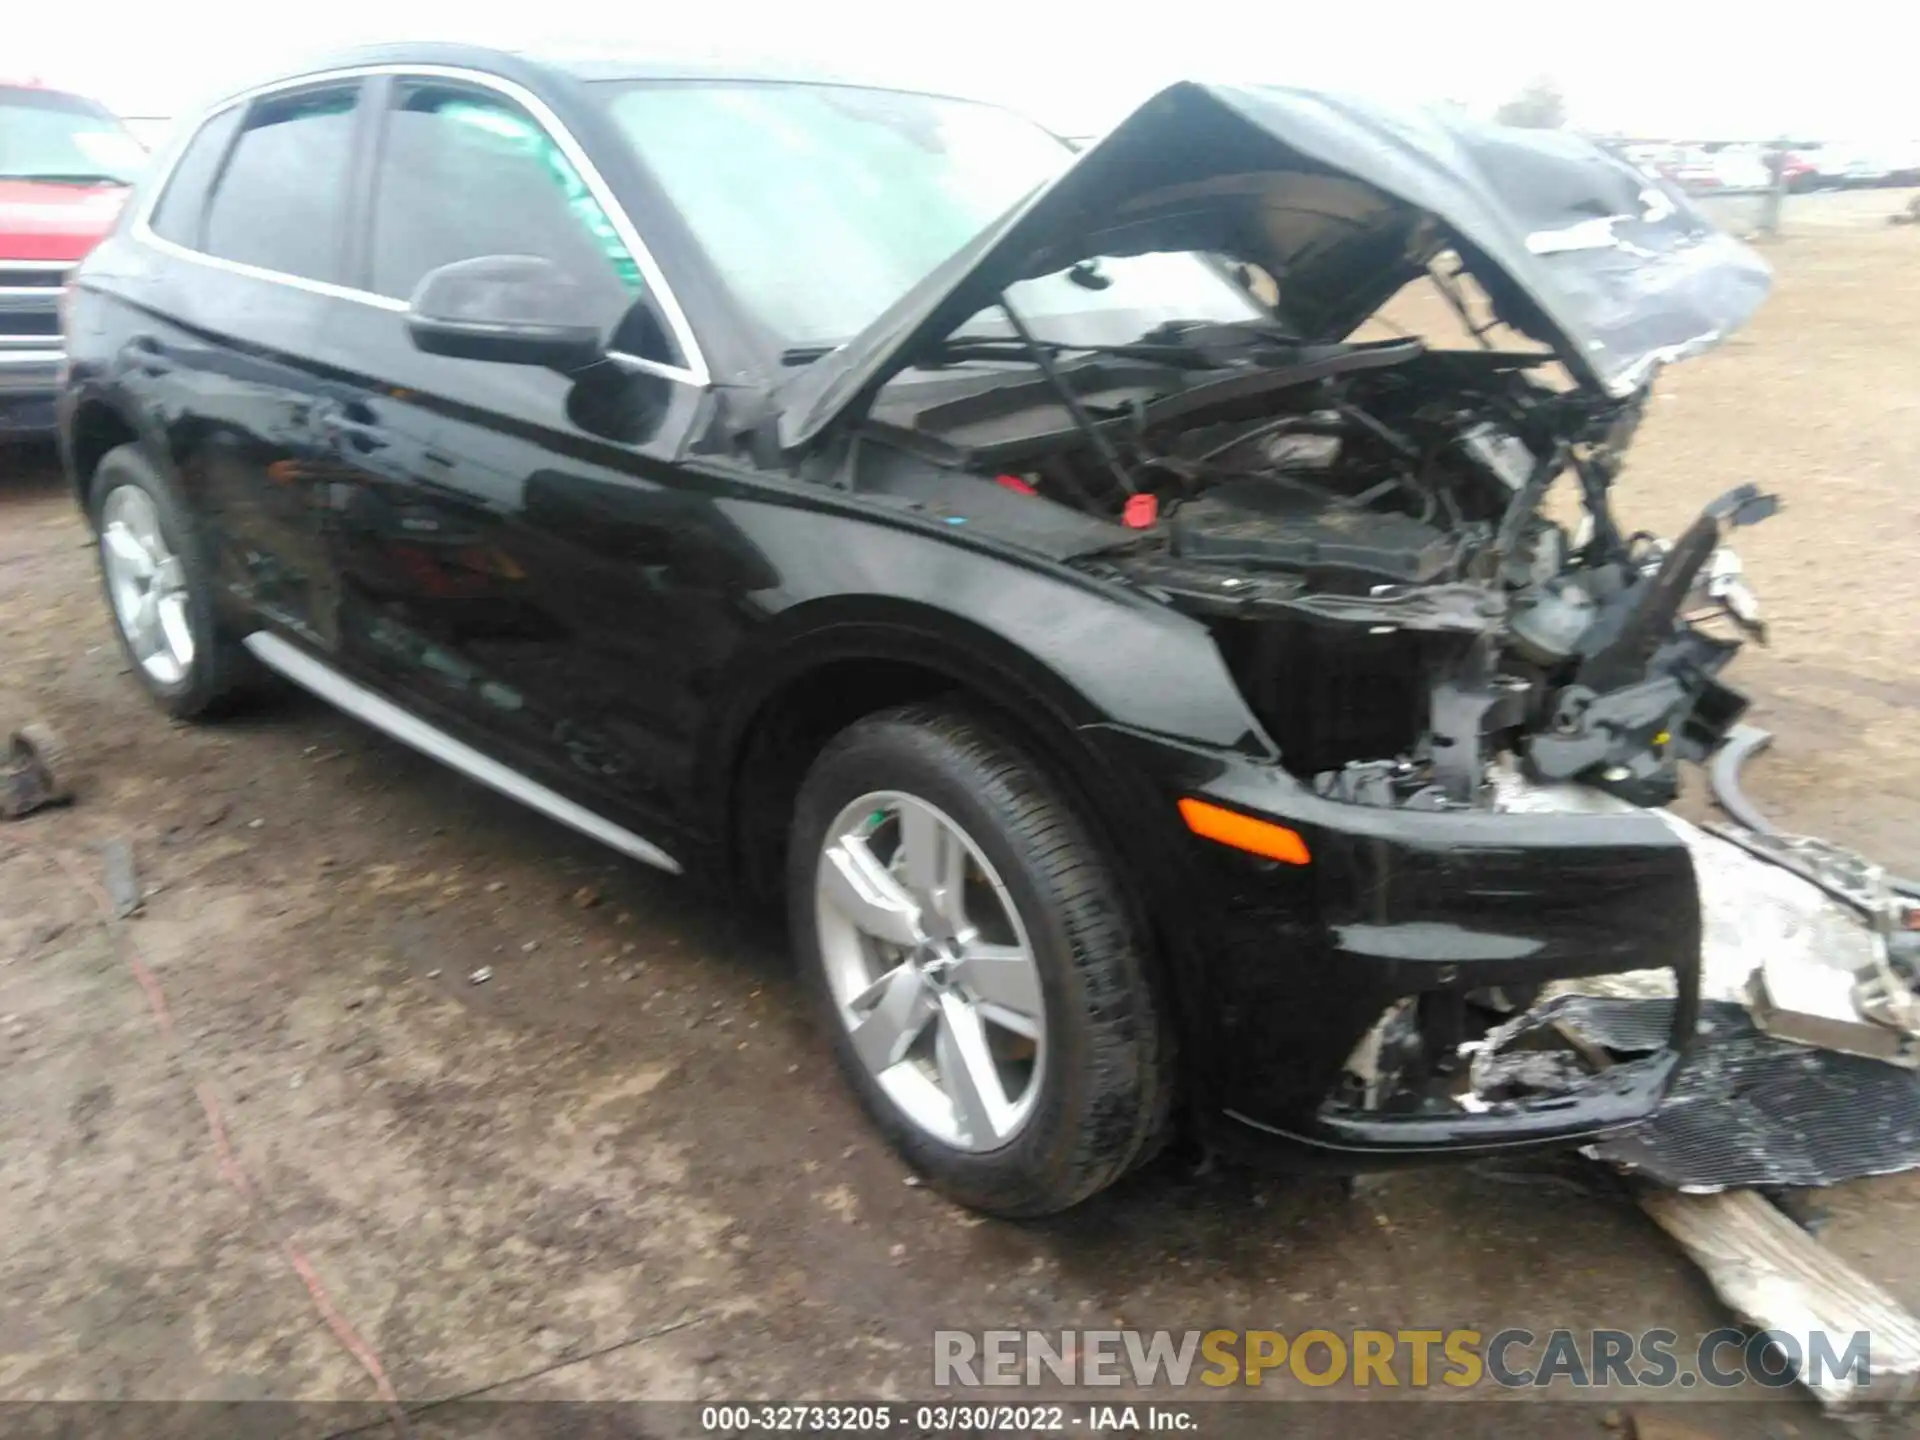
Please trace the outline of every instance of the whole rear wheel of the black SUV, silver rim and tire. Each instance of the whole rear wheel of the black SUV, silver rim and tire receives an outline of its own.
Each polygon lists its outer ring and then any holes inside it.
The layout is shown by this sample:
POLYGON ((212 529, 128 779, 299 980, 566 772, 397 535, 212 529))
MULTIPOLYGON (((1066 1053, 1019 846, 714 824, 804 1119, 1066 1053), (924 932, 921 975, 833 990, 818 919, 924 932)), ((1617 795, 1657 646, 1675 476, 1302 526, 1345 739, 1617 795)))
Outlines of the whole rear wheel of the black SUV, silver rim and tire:
POLYGON ((211 574, 184 509, 134 445, 100 461, 90 507, 100 580, 134 678, 180 720, 223 708, 250 666, 215 624, 211 574))

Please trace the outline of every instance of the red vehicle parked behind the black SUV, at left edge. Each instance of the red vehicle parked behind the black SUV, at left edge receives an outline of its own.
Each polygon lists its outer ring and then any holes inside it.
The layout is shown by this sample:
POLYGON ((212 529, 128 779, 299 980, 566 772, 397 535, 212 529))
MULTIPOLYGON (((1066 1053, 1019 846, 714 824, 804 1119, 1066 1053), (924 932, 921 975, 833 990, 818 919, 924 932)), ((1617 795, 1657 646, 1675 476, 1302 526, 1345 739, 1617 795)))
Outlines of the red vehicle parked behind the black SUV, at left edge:
POLYGON ((0 440, 52 436, 67 271, 113 227, 144 165, 104 106, 0 81, 0 440))

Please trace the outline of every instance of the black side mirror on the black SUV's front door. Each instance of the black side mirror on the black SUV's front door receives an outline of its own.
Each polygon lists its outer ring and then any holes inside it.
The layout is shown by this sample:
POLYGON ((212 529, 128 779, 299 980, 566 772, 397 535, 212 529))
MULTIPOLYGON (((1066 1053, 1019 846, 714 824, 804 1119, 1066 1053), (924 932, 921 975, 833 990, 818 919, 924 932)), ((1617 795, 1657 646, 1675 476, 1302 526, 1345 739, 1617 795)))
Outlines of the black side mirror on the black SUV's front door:
POLYGON ((605 353, 593 294, 540 255, 480 255, 428 271, 407 332, 428 355, 580 371, 605 353))

